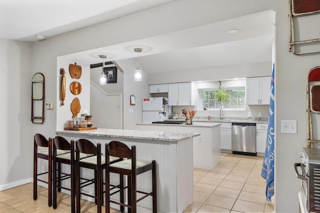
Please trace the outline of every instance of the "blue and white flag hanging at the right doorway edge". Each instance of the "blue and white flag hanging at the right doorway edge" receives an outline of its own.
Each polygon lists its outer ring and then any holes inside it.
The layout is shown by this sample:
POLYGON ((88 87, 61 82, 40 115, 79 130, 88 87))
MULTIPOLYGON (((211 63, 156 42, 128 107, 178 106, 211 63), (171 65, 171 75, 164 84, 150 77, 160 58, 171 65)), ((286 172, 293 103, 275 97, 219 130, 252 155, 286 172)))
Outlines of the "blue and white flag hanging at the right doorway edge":
POLYGON ((272 69, 270 86, 270 106, 268 130, 266 135, 266 144, 264 159, 262 163, 261 176, 266 179, 265 196, 268 202, 274 194, 274 64, 272 69))

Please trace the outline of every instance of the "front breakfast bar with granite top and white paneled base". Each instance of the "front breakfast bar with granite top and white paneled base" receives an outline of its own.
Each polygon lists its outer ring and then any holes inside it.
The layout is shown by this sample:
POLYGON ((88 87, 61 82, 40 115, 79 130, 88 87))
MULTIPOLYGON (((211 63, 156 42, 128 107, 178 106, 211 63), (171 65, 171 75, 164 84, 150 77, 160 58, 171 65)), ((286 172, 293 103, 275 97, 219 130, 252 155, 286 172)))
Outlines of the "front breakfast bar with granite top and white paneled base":
MULTIPOLYGON (((56 131, 56 135, 66 140, 85 138, 102 145, 113 140, 127 146, 136 146, 139 160, 156 161, 157 211, 161 213, 183 212, 193 201, 193 138, 199 133, 178 133, 160 131, 138 131, 119 129, 97 129, 88 131, 56 131)), ((81 170, 83 176, 92 176, 92 171, 81 170)), ((110 177, 111 184, 117 183, 118 176, 110 177)), ((137 177, 137 189, 152 191, 151 171, 137 177)), ((87 190, 94 193, 93 189, 87 190)), ((111 197, 119 200, 118 197, 111 197)), ((139 197, 138 197, 139 198, 139 197)), ((89 200, 89 199, 88 199, 89 200)), ((118 206, 111 205, 119 209, 118 206)), ((137 203, 137 212, 150 212, 152 199, 137 203)))

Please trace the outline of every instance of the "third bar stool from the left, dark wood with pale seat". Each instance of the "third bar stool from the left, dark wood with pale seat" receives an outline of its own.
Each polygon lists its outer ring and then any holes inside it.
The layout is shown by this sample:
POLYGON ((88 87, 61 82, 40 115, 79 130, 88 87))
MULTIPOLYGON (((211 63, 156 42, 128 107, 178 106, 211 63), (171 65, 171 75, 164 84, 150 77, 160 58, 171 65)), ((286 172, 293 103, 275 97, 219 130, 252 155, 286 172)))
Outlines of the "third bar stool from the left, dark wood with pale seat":
MULTIPOLYGON (((119 158, 110 158, 111 162, 120 161, 119 158)), ((103 204, 103 183, 102 183, 102 171, 105 169, 105 158, 101 157, 101 144, 96 146, 87 139, 79 139, 75 142, 75 171, 76 171, 76 213, 80 213, 80 195, 86 195, 94 198, 97 204, 97 213, 101 213, 101 206, 103 204), (80 153, 91 154, 93 156, 80 159, 80 153), (87 168, 94 170, 94 179, 86 180, 80 183, 80 168, 87 168), (94 183, 94 196, 85 194, 80 191, 81 188, 94 183)), ((109 186, 109 185, 108 185, 109 186)))

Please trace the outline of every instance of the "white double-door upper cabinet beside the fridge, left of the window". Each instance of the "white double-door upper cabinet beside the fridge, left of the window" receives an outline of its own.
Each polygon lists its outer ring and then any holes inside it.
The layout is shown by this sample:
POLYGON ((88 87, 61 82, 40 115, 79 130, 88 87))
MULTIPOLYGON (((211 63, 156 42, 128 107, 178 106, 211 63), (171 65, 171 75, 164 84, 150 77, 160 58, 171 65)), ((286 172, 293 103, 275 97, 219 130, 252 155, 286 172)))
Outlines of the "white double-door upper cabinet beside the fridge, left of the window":
POLYGON ((191 82, 173 83, 168 85, 169 106, 194 105, 194 84, 191 82))

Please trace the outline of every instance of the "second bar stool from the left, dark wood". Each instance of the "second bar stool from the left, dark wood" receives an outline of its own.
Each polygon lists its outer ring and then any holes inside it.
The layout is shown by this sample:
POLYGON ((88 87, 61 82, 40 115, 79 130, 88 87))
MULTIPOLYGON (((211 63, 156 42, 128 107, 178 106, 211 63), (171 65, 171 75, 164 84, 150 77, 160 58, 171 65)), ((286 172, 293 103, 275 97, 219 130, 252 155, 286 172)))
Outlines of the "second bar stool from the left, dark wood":
MULTIPOLYGON (((70 143, 61 136, 55 136, 52 143, 52 161, 53 161, 53 175, 52 175, 52 206, 56 209, 56 192, 60 192, 61 189, 70 191, 71 197, 71 212, 75 212, 75 149, 74 141, 70 143), (57 155, 57 152, 67 152, 62 155, 57 155), (72 155, 73 153, 73 155, 72 155), (72 163, 71 163, 72 162, 72 163), (70 165, 70 173, 66 174, 61 172, 61 164, 70 165), (56 166, 58 169, 56 169, 56 166), (61 176, 62 175, 62 176, 61 176), (70 188, 62 187, 61 181, 70 179, 70 188)), ((91 154, 80 153, 80 159, 91 157, 91 154)))

